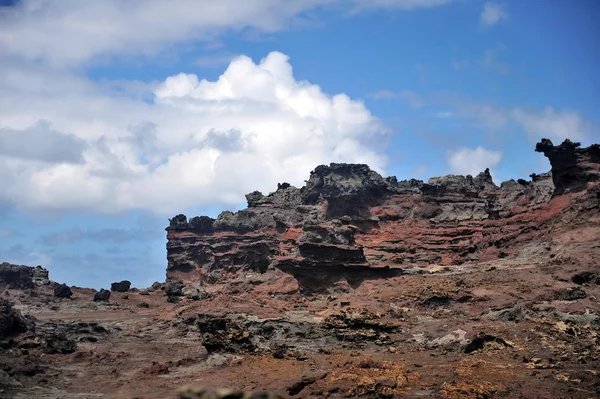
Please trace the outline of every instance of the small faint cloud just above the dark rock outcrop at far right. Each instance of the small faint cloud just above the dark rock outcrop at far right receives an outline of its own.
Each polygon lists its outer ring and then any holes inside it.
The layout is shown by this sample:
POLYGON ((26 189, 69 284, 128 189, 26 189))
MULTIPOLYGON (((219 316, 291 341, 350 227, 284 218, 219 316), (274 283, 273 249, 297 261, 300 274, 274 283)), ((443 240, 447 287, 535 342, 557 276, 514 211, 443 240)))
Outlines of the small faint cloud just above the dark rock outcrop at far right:
POLYGON ((542 137, 553 140, 585 140, 600 135, 600 129, 574 111, 555 111, 546 107, 542 111, 516 108, 512 117, 535 140, 542 137))

